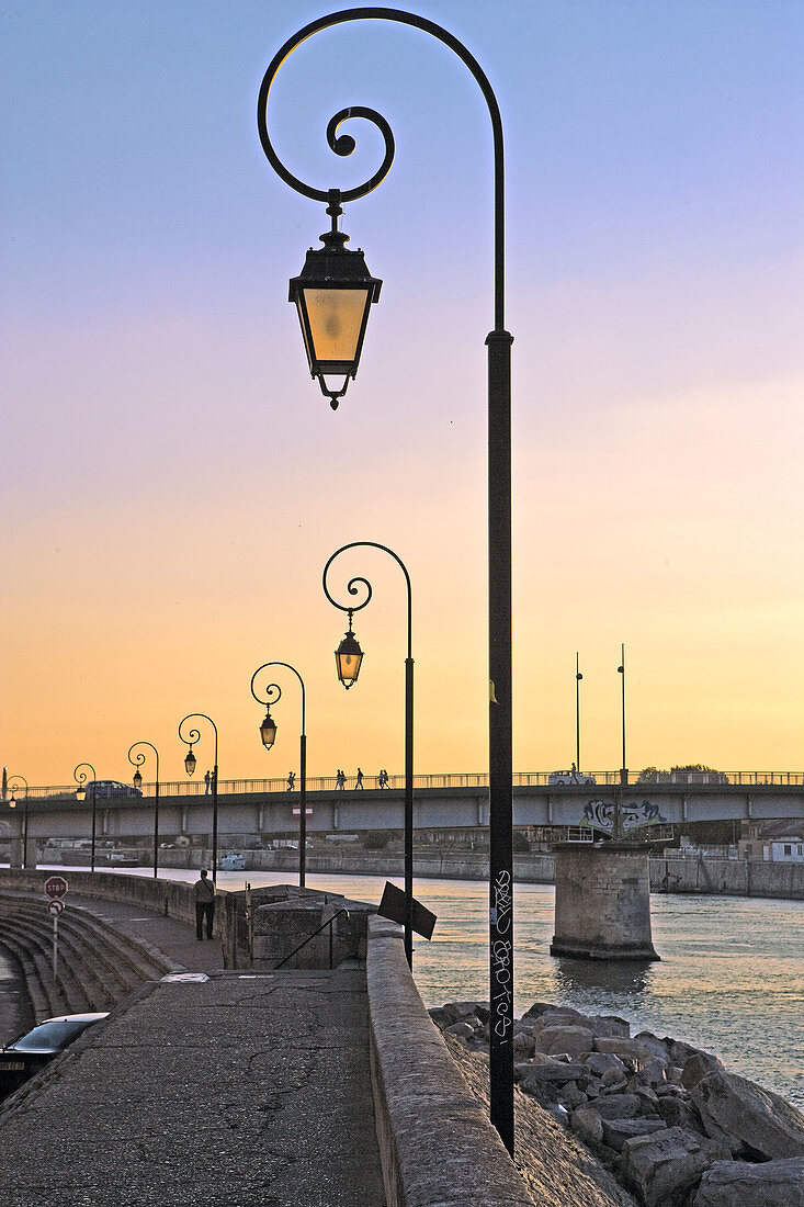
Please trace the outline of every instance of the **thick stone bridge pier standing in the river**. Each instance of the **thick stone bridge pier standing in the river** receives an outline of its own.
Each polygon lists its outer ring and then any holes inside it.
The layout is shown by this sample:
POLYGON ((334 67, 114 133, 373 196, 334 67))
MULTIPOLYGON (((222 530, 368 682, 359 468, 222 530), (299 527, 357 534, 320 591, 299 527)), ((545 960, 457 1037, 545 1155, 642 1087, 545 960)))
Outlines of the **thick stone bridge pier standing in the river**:
POLYGON ((555 847, 552 956, 659 960, 651 937, 648 849, 641 842, 555 847))

